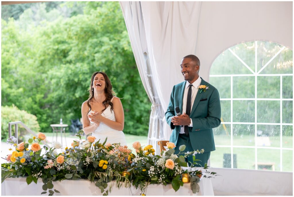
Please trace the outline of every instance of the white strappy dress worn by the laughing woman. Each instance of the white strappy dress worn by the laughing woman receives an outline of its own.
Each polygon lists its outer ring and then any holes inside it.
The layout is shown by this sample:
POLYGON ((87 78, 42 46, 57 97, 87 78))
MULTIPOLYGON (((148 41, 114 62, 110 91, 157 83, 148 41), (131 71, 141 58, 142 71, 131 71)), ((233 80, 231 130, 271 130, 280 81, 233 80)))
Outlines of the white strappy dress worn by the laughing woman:
MULTIPOLYGON (((108 106, 101 115, 109 120, 116 121, 114 116, 114 111, 111 111, 110 109, 111 109, 111 106, 108 106)), ((93 113, 93 111, 91 110, 89 113, 93 113)), ((91 121, 91 119, 89 120, 91 125, 94 124, 91 121)), ((96 140, 94 143, 96 143, 96 141, 98 141, 99 139, 100 139, 100 143, 103 143, 107 137, 106 142, 109 142, 111 144, 121 143, 121 146, 127 145, 126 138, 125 138, 125 135, 123 134, 123 131, 118 131, 113 128, 110 128, 109 126, 107 126, 106 124, 102 122, 100 123, 98 128, 96 128, 96 130, 92 133, 92 136, 96 137, 96 140)))

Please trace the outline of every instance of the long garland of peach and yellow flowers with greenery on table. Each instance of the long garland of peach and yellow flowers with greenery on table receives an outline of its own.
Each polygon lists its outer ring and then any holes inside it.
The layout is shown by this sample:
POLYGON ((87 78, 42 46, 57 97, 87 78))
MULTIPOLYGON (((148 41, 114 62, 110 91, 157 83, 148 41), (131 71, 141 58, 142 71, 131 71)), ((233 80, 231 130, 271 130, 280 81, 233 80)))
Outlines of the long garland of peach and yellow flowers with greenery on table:
MULTIPOLYGON (((131 153, 127 146, 119 144, 103 143, 95 141, 94 136, 88 136, 87 141, 82 141, 83 130, 80 130, 76 136, 79 140, 75 140, 71 145, 66 147, 63 152, 57 153, 56 150, 61 148, 58 142, 53 143, 52 148, 43 146, 45 153, 41 155, 42 148, 40 142, 46 140, 43 133, 39 133, 37 137, 30 138, 28 142, 16 144, 16 139, 12 136, 7 140, 14 148, 11 154, 7 155, 6 163, 1 164, 1 182, 7 177, 26 176, 26 182, 30 184, 32 181, 37 183, 38 179, 42 179, 44 192, 52 196, 55 192, 53 181, 61 181, 64 179, 76 180, 78 178, 88 179, 94 182, 100 188, 103 195, 111 192, 111 184, 107 188, 108 183, 116 180, 116 187, 122 185, 130 187, 131 184, 141 189, 141 195, 145 195, 149 184, 172 184, 177 191, 183 186, 181 175, 187 173, 191 180, 191 189, 193 193, 199 191, 197 182, 201 177, 210 178, 211 176, 203 175, 200 170, 183 170, 181 166, 187 166, 185 157, 193 155, 193 163, 191 167, 197 164, 195 154, 203 153, 201 151, 193 151, 188 153, 174 154, 174 143, 167 143, 168 150, 163 151, 163 156, 155 155, 155 150, 151 145, 145 148, 141 147, 139 142, 133 143, 136 149, 136 155, 131 153), (31 144, 29 148, 29 144, 31 144)), ((185 150, 185 146, 179 147, 180 151, 185 150)), ((10 149, 12 150, 12 148, 10 149)), ((211 175, 216 173, 208 172, 204 166, 203 170, 211 175)))

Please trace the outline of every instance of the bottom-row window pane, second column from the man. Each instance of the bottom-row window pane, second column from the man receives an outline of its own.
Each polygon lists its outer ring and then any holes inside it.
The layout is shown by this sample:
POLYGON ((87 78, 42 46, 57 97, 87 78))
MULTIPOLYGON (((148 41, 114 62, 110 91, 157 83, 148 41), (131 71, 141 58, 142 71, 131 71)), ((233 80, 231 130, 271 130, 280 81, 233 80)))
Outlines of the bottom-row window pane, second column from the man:
POLYGON ((254 170, 255 149, 254 148, 233 148, 233 154, 236 155, 237 167, 242 169, 254 170))

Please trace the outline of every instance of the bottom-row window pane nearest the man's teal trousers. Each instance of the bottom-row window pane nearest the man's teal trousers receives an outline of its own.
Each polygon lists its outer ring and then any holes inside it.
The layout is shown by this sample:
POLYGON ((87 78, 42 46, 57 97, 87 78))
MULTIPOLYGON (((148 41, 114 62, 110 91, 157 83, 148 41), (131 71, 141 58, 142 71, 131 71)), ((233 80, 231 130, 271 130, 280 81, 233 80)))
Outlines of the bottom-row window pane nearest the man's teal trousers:
POLYGON ((216 147, 215 151, 211 152, 210 155, 210 162, 211 167, 213 168, 224 168, 230 166, 231 159, 231 148, 225 148, 225 147, 216 147))

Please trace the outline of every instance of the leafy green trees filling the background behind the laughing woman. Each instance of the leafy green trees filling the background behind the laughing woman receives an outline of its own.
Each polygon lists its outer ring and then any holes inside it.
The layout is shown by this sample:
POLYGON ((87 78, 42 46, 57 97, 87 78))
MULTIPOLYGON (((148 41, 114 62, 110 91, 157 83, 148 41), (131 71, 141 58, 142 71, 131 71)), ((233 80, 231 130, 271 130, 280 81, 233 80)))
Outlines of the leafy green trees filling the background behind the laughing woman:
POLYGON ((81 117, 91 74, 104 71, 122 98, 123 131, 147 135, 151 102, 118 2, 1 7, 2 106, 34 114, 41 132, 52 132, 50 124, 60 118, 70 125, 81 117))

